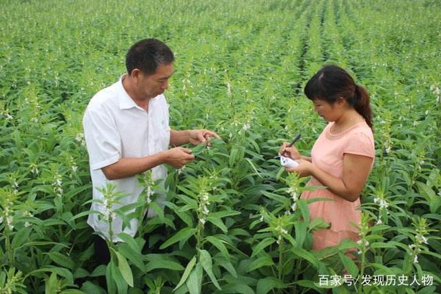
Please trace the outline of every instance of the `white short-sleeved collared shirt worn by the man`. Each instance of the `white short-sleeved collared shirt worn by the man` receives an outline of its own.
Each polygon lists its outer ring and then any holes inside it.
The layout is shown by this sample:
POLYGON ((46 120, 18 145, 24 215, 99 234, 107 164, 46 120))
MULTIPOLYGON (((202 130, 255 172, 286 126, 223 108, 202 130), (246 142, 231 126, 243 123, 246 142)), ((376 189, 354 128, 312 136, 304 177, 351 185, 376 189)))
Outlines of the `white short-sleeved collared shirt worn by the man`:
MULTIPOLYGON (((107 180, 101 168, 112 165, 121 158, 139 158, 167 150, 170 144, 170 126, 165 96, 161 94, 150 99, 147 112, 136 105, 127 94, 123 87, 123 78, 124 76, 92 97, 83 116, 83 129, 89 154, 94 200, 103 200, 98 188, 112 182, 118 191, 127 195, 122 204, 130 204, 138 200, 144 189, 138 187, 136 176, 107 180)), ((154 167, 152 176, 154 180, 165 179, 166 167, 154 167)), ((160 206, 163 206, 163 198, 164 196, 158 200, 160 206)), ((94 202, 91 211, 105 213, 105 207, 94 202)), ((89 215, 88 224, 109 238, 107 222, 99 220, 96 213, 89 215)), ((130 226, 123 229, 121 218, 116 216, 112 222, 112 232, 114 236, 121 231, 134 235, 137 225, 137 220, 132 220, 130 226)), ((114 237, 113 241, 120 240, 114 237)))

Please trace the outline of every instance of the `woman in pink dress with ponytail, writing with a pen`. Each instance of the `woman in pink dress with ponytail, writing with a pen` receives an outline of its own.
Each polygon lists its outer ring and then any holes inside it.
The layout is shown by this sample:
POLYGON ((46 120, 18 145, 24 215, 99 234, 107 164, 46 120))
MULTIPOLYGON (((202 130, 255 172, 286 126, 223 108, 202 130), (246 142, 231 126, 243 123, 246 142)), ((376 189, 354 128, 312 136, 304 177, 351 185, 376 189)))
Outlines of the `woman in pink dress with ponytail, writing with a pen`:
POLYGON ((360 193, 373 166, 375 148, 369 94, 356 85, 342 68, 328 65, 319 70, 305 86, 314 110, 328 123, 311 150, 302 156, 296 147, 284 143, 280 154, 296 160, 297 167, 287 169, 300 176, 312 176, 307 185, 326 189, 305 191, 302 199, 329 198, 309 204, 311 219, 323 218, 329 229, 313 233, 313 250, 335 246, 349 238, 358 240, 360 193))

